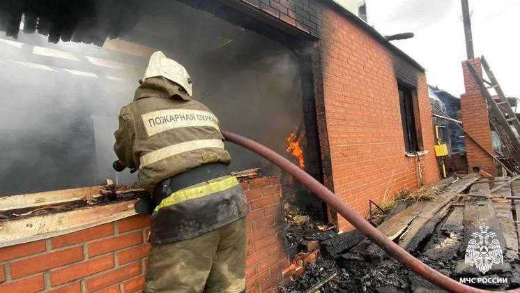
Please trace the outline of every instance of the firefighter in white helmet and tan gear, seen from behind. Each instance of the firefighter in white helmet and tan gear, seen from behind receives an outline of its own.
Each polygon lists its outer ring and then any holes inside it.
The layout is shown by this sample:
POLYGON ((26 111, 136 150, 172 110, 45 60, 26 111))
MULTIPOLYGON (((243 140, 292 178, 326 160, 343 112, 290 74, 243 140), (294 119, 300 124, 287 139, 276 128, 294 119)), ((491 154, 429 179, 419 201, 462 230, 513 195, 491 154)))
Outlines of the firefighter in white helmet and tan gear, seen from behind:
POLYGON ((114 151, 152 194, 144 292, 245 292, 247 200, 227 170, 219 121, 160 51, 140 82, 119 114, 114 151))

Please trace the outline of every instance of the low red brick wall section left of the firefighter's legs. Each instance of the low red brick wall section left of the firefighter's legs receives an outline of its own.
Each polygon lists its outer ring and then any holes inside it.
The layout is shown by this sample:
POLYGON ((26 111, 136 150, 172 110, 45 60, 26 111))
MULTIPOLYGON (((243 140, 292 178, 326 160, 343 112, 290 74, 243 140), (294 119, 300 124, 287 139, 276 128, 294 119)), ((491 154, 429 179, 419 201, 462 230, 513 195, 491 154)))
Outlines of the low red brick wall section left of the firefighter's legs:
POLYGON ((144 284, 148 216, 0 248, 0 292, 135 292, 144 284), (121 291, 120 291, 121 290, 121 291))

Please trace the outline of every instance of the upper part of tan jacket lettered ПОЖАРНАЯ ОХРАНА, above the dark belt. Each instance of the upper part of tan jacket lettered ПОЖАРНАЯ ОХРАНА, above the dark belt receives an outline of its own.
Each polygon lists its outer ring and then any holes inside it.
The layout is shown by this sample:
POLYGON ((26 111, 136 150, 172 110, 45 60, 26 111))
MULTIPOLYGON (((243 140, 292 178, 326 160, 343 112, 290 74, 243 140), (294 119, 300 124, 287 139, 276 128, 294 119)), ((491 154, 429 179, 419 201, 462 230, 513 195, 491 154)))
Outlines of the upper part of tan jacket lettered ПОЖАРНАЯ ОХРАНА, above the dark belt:
POLYGON ((139 182, 150 192, 178 173, 231 161, 215 115, 165 77, 148 78, 136 89, 114 135, 116 155, 139 169, 139 182))

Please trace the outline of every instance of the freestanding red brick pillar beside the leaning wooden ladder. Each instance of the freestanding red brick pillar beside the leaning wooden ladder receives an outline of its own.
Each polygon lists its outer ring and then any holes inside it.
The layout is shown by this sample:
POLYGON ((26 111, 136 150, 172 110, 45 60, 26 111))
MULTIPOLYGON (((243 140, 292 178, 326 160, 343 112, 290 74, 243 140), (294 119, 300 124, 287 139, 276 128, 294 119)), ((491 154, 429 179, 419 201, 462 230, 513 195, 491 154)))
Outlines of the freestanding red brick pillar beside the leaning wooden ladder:
MULTIPOLYGON (((480 58, 472 59, 470 62, 477 73, 482 76, 480 58)), ((471 75, 466 66, 466 61, 462 62, 462 70, 464 73, 464 87, 466 88, 466 93, 461 95, 461 114, 464 129, 483 147, 492 152, 491 128, 489 126, 486 99, 482 96, 477 82, 475 82, 473 75, 471 75)), ((472 172, 473 167, 480 167, 485 172, 496 175, 497 170, 493 159, 482 151, 468 136, 464 137, 464 140, 466 142, 468 172, 472 172)))

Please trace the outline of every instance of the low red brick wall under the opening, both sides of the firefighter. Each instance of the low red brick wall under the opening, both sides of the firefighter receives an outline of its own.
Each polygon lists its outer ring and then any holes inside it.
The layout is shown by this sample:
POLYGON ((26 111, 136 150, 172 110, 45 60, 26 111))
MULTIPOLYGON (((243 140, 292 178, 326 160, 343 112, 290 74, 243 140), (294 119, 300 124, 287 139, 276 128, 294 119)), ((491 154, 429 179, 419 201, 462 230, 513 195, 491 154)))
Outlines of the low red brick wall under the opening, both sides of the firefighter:
MULTIPOLYGON (((247 216, 247 290, 272 292, 289 266, 276 177, 242 183, 247 216)), ((135 292, 144 285, 149 216, 0 248, 0 292, 135 292)))

